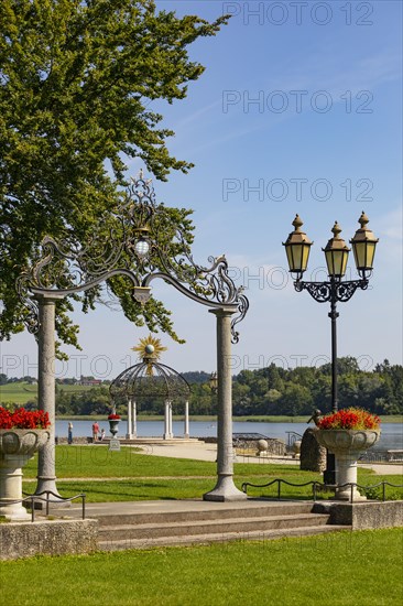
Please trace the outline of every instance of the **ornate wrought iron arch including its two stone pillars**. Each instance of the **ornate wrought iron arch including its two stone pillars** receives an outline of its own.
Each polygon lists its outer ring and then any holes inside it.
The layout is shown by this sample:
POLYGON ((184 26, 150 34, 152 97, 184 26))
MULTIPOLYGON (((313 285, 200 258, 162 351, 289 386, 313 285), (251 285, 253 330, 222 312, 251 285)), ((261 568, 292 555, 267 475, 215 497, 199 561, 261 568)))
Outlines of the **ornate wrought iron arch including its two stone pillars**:
POLYGON ((17 283, 28 313, 24 322, 39 342, 39 401, 48 412, 51 440, 39 456, 36 494, 55 484, 55 301, 85 292, 100 283, 124 275, 132 283, 133 299, 145 305, 153 280, 162 279, 189 299, 207 305, 217 320, 218 442, 217 485, 204 495, 206 500, 243 500, 246 495, 233 484, 231 342, 238 343, 235 326, 249 307, 242 288, 228 273, 224 256, 208 259, 209 267, 195 263, 187 241, 186 223, 173 229, 162 204, 156 205, 150 180, 143 175, 122 192, 116 213, 106 213, 85 247, 68 232, 62 241, 46 237, 36 261, 17 283))

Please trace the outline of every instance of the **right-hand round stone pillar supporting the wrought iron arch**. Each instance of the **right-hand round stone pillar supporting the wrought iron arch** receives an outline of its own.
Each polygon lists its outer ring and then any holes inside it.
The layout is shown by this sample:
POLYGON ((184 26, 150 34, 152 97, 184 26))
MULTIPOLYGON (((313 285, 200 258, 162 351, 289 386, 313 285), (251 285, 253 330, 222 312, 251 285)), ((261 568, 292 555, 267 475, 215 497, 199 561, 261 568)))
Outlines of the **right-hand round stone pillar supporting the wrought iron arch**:
POLYGON ((231 316, 236 310, 209 310, 217 317, 217 484, 203 498, 209 501, 244 500, 247 495, 233 484, 231 316))

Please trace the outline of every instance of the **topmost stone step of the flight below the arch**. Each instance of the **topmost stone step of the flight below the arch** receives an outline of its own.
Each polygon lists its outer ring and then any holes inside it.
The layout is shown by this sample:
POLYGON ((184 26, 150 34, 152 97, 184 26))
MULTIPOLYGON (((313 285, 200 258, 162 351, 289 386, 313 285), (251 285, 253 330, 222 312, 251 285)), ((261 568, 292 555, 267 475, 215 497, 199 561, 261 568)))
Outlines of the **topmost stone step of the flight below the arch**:
MULTIPOLYGON (((255 518, 262 516, 288 516, 311 513, 313 509, 312 502, 275 502, 275 504, 257 504, 248 501, 248 505, 237 506, 231 504, 219 504, 219 507, 211 507, 211 504, 198 506, 196 509, 183 509, 176 511, 150 511, 135 513, 96 513, 100 527, 102 526, 121 526, 121 524, 141 524, 141 523, 175 523, 196 520, 227 520, 230 518, 255 518)), ((90 508, 87 508, 87 516, 92 517, 90 508)))

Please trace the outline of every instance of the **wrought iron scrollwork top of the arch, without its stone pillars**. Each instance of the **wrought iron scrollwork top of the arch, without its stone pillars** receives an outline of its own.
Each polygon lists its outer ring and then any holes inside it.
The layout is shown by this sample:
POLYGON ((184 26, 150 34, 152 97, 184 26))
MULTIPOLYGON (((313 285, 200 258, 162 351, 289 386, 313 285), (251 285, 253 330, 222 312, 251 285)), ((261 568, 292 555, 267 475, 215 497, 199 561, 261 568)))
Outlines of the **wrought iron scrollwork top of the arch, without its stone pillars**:
POLYGON ((62 241, 45 237, 36 262, 22 273, 17 288, 25 309, 24 322, 37 331, 37 305, 33 296, 67 296, 88 291, 115 275, 126 275, 133 285, 133 299, 142 305, 150 297, 150 283, 161 278, 179 292, 211 307, 231 306, 232 340, 239 340, 236 324, 243 320, 249 302, 243 289, 237 288, 228 273, 225 256, 209 257, 208 267, 197 264, 185 231, 181 227, 166 237, 162 225, 166 209, 156 204, 151 180, 140 173, 132 180, 115 213, 105 215, 85 247, 74 234, 62 241), (146 239, 148 255, 137 250, 139 238, 146 239))

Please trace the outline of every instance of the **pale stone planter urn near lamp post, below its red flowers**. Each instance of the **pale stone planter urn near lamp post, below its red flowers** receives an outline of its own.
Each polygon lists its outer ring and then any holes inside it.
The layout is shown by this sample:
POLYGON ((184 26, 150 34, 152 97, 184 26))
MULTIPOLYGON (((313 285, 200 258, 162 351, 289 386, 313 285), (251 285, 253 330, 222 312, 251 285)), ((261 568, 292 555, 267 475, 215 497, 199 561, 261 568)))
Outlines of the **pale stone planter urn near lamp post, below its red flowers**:
MULTIPOLYGON (((336 499, 350 500, 351 487, 344 484, 357 484, 357 461, 360 454, 377 444, 380 430, 317 430, 315 437, 336 459, 336 499)), ((356 487, 353 500, 366 500, 356 487)))

